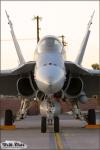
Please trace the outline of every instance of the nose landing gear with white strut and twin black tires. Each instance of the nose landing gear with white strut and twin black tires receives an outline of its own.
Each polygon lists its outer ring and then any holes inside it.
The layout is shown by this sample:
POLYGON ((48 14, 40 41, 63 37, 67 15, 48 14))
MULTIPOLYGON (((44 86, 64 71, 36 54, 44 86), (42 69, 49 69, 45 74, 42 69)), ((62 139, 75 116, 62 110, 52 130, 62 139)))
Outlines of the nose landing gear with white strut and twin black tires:
POLYGON ((59 132, 59 117, 61 108, 56 101, 44 100, 40 105, 41 118, 41 132, 45 133, 47 125, 54 125, 54 132, 59 132))

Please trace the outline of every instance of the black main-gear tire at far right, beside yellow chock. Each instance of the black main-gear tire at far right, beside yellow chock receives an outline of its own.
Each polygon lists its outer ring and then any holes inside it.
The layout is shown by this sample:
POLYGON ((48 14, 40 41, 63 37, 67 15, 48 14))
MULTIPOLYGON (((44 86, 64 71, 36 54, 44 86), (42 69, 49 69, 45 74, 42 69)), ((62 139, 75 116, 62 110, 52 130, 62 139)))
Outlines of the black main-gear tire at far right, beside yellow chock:
POLYGON ((89 125, 95 125, 96 124, 96 113, 94 109, 88 110, 88 124, 89 125))

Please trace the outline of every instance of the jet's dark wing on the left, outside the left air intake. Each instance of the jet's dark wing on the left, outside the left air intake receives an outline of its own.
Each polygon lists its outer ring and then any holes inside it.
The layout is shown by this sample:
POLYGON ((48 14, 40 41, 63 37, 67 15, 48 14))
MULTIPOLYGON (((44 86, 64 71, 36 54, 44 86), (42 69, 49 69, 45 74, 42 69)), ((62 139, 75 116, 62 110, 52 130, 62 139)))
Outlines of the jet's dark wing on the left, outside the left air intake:
MULTIPOLYGON (((20 77, 33 75, 35 62, 28 62, 14 70, 0 72, 0 95, 18 95, 17 81, 20 77)), ((34 86, 34 85, 33 85, 34 86)))

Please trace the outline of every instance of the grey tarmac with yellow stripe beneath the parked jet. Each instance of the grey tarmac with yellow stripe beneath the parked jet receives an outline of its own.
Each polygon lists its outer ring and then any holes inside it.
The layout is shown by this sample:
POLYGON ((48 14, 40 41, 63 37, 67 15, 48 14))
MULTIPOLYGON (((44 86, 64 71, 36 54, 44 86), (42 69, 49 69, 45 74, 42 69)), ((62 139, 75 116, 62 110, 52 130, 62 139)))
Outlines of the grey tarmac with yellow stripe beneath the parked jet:
POLYGON ((60 133, 54 133, 53 126, 41 133, 41 116, 28 116, 15 124, 16 129, 1 130, 1 142, 21 141, 28 150, 100 150, 100 129, 83 128, 86 122, 72 116, 60 116, 60 133))

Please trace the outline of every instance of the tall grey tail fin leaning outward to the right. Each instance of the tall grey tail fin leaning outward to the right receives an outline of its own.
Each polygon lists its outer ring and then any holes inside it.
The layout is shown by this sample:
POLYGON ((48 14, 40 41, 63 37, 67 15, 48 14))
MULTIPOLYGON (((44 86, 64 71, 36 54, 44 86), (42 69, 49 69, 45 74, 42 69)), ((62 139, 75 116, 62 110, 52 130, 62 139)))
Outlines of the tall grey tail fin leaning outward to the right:
POLYGON ((80 50, 79 50, 79 54, 75 60, 75 63, 77 63, 78 65, 81 65, 82 63, 82 60, 83 60, 83 56, 84 56, 84 52, 85 52, 85 49, 86 49, 86 45, 87 45, 87 42, 88 42, 88 38, 89 38, 89 35, 90 35, 90 26, 92 24, 92 19, 93 19, 93 16, 94 16, 94 12, 93 11, 93 14, 91 16, 91 19, 89 20, 89 23, 87 25, 87 29, 86 29, 86 34, 83 38, 83 41, 82 41, 82 44, 81 44, 81 47, 80 47, 80 50))

